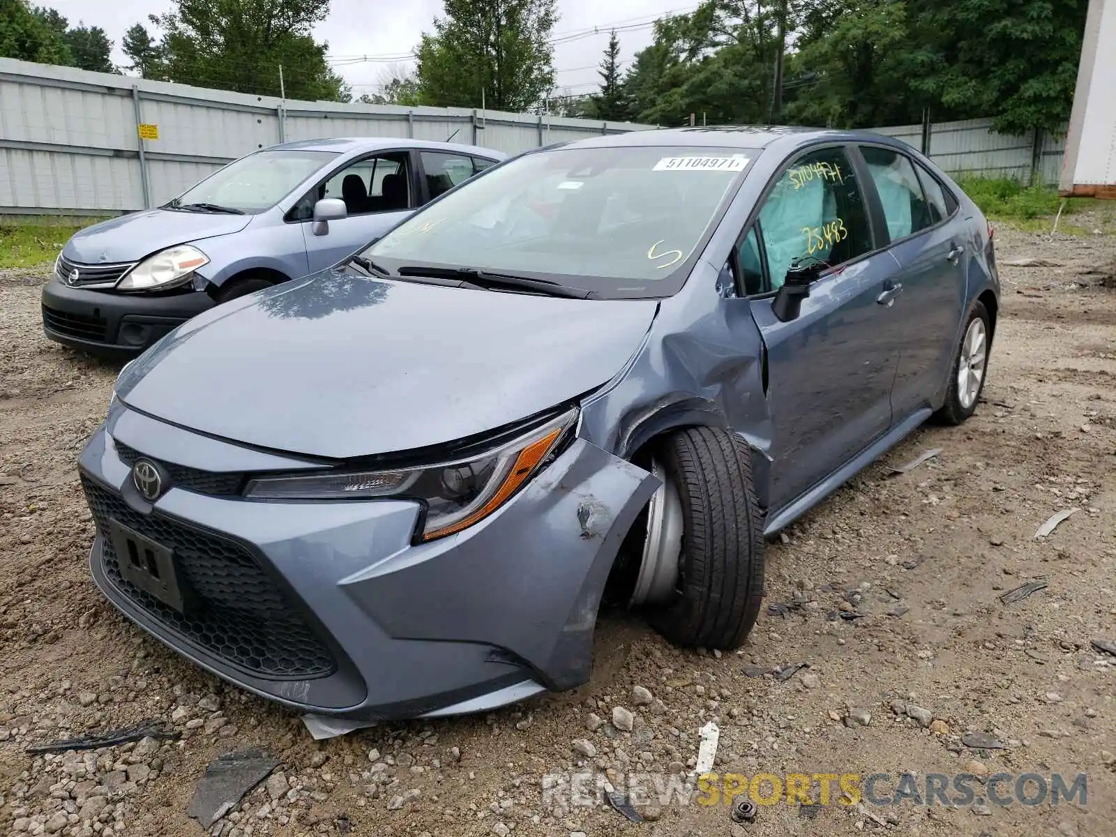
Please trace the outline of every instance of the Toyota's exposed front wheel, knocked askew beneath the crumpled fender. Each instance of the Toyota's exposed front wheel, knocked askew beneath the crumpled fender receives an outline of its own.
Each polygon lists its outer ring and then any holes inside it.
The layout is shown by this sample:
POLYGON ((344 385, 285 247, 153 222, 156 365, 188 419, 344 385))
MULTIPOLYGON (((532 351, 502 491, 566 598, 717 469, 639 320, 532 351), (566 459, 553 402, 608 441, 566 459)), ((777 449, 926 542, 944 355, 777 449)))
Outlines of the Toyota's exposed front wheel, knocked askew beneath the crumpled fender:
POLYGON ((647 509, 632 604, 683 646, 735 648, 763 598, 762 518, 751 452, 734 433, 691 427, 654 454, 663 480, 647 509))

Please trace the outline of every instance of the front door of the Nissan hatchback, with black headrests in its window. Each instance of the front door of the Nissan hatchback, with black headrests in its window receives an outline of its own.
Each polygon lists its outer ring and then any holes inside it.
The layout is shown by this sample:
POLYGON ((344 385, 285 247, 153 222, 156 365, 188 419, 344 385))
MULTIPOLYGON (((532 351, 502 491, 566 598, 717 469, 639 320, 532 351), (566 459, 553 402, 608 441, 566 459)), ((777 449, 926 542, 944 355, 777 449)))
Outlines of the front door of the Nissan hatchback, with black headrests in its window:
POLYGON ((302 228, 310 272, 352 256, 383 235, 420 204, 414 155, 379 152, 354 161, 319 183, 291 210, 302 228), (314 204, 324 198, 345 202, 347 215, 329 222, 329 231, 314 234, 314 204))

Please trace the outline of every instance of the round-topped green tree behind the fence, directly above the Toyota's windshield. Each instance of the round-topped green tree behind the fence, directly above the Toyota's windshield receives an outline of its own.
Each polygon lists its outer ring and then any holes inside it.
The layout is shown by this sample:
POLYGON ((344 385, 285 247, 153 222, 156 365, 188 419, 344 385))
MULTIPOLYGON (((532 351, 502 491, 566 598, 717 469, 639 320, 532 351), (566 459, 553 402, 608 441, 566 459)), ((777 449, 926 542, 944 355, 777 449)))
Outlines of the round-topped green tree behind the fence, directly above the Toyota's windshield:
POLYGON ((527 110, 554 87, 556 0, 445 0, 419 46, 424 104, 527 110))

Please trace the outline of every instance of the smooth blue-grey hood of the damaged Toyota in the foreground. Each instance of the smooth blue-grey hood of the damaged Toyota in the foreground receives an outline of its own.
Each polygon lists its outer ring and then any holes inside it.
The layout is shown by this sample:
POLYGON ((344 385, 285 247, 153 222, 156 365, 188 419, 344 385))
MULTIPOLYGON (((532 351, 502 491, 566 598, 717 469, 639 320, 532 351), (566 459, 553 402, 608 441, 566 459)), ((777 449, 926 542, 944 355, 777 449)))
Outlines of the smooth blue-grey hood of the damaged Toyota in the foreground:
POLYGON ((214 308, 121 376, 128 406, 310 456, 410 451, 485 433, 604 384, 655 300, 464 290, 323 271, 214 308))

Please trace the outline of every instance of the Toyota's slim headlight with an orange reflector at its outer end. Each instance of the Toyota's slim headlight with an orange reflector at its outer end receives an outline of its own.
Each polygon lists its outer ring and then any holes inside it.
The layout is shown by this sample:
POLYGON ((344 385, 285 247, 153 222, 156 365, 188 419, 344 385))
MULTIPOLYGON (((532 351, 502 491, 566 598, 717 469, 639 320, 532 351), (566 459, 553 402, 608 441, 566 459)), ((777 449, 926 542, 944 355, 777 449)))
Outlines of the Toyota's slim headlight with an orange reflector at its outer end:
POLYGON ((247 497, 262 500, 410 498, 426 506, 422 539, 433 540, 477 523, 538 473, 577 420, 577 411, 492 450, 426 468, 319 473, 252 480, 247 497))

